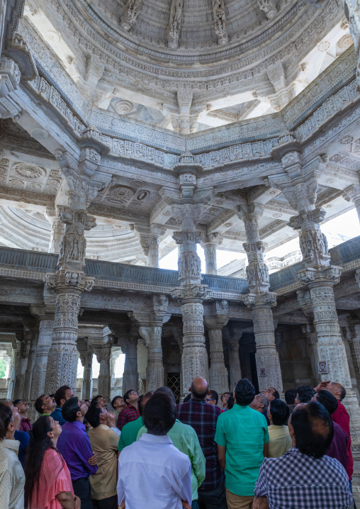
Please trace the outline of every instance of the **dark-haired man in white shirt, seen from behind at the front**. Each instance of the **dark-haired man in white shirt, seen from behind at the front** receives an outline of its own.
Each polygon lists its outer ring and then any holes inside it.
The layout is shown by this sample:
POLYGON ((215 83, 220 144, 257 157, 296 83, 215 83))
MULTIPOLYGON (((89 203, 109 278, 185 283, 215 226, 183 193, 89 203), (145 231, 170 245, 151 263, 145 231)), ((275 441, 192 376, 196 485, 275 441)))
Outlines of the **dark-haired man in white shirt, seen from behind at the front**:
POLYGON ((191 509, 191 464, 167 432, 176 408, 167 393, 156 393, 142 413, 147 433, 119 457, 118 503, 126 509, 191 509))

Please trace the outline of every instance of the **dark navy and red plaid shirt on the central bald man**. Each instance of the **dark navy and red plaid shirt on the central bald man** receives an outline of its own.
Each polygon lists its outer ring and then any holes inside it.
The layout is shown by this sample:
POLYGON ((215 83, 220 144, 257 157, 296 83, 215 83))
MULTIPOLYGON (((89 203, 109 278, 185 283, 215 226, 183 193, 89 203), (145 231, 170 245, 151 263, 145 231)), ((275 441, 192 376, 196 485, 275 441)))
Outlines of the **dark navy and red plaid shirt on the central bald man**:
POLYGON ((191 398, 186 403, 177 405, 176 413, 181 423, 189 424, 196 431, 206 459, 206 477, 198 491, 215 490, 224 479, 218 462, 218 447, 214 440, 220 408, 209 405, 205 400, 197 401, 191 398))

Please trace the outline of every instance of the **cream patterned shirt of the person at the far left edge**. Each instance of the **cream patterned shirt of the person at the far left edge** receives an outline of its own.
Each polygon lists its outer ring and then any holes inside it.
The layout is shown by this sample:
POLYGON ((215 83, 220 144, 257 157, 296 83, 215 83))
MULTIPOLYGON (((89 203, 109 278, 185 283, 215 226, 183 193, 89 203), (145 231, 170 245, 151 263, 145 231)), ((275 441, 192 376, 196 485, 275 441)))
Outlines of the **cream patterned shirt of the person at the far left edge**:
POLYGON ((0 441, 0 509, 23 509, 25 475, 18 461, 18 440, 0 441))

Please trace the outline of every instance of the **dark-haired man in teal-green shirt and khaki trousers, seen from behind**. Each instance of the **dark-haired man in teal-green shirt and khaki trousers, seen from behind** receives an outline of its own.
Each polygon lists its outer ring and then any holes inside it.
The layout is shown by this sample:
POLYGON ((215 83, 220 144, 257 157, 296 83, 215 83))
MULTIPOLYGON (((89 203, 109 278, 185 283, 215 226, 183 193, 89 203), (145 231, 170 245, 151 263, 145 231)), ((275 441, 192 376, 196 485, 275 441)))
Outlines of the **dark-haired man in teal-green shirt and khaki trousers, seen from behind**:
POLYGON ((249 407, 255 397, 252 383, 238 381, 233 394, 235 405, 219 415, 215 442, 225 471, 227 508, 251 509, 260 466, 269 454, 269 432, 264 415, 249 407))

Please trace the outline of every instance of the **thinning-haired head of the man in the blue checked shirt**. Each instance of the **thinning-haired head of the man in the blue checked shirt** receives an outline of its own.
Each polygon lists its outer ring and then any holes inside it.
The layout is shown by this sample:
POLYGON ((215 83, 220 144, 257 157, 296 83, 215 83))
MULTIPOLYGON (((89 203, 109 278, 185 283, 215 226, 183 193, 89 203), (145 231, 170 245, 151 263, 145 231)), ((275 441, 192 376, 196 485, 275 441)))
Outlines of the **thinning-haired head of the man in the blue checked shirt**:
POLYGON ((322 458, 334 437, 331 415, 317 401, 296 406, 288 430, 299 451, 313 458, 322 458))

